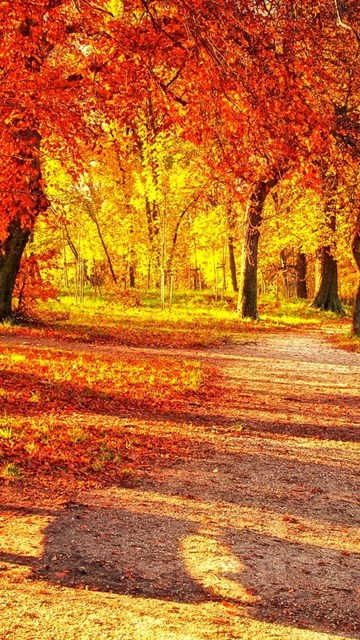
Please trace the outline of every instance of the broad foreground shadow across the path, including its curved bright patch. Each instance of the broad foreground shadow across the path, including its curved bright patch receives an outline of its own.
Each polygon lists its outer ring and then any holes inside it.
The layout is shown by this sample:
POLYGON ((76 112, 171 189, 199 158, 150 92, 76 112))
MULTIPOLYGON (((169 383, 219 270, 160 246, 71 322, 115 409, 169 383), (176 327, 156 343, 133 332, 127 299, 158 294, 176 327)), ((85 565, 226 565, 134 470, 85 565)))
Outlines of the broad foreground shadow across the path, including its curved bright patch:
MULTIPOLYGON (((31 558, 5 551, 0 562, 30 567, 32 579, 69 588, 183 604, 226 600, 239 607, 239 615, 245 609, 253 619, 359 637, 359 554, 346 557, 337 550, 249 530, 219 528, 209 534, 186 516, 159 515, 146 508, 141 511, 141 502, 127 508, 69 503, 55 517, 49 510, 53 520, 44 531, 43 555, 31 558), (200 553, 196 543, 187 546, 193 539, 200 539, 200 553), (209 573, 212 540, 223 551, 216 571, 209 573), (229 558, 239 565, 238 571, 229 571, 229 558), (244 599, 241 594, 247 592, 254 597, 244 599)), ((26 509, 14 512, 26 515, 26 509)), ((47 510, 39 514, 47 515, 47 510)))

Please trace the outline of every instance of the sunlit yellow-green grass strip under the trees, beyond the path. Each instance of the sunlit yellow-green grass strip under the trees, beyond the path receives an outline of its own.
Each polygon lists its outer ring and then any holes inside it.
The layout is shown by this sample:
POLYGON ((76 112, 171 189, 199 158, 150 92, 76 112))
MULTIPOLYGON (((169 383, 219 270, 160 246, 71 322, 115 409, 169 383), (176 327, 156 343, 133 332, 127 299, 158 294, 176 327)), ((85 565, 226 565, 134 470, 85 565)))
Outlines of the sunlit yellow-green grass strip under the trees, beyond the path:
MULTIPOLYGON (((139 299, 136 298, 137 305, 139 299)), ((267 333, 288 327, 312 329, 323 324, 345 331, 349 327, 348 319, 313 309, 309 301, 274 296, 260 298, 260 321, 240 319, 234 295, 216 301, 208 291, 176 291, 171 311, 160 309, 158 291, 143 293, 140 306, 128 306, 128 303, 128 298, 115 301, 86 297, 79 305, 73 298, 61 297, 39 307, 43 326, 29 328, 7 323, 0 327, 0 335, 30 332, 67 341, 191 349, 238 342, 254 331, 267 333)))

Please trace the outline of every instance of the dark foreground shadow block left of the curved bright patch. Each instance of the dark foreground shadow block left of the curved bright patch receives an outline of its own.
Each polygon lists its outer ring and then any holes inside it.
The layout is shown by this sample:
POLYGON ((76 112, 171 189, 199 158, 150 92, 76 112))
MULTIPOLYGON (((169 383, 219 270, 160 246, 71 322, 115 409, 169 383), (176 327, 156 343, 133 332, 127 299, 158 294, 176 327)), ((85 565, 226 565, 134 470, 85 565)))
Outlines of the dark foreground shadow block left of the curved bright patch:
POLYGON ((195 531, 196 524, 180 518, 71 503, 45 528, 40 558, 0 552, 0 561, 31 567, 34 580, 67 587, 199 603, 213 598, 178 554, 179 539, 195 531))

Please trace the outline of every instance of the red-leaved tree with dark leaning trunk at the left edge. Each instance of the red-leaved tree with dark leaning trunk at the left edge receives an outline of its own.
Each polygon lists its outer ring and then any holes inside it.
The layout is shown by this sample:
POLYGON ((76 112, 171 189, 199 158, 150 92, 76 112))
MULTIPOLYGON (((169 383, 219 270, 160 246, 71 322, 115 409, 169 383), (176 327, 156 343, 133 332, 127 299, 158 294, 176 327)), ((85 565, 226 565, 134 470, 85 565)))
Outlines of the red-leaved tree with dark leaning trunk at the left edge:
MULTIPOLYGON (((11 315, 24 248, 37 217, 49 206, 42 154, 50 153, 53 142, 59 153, 80 131, 86 136, 83 115, 91 108, 82 74, 86 21, 80 24, 74 5, 68 0, 4 0, 1 8, 0 320, 11 315)), ((90 22, 94 17, 89 7, 86 16, 90 22)))

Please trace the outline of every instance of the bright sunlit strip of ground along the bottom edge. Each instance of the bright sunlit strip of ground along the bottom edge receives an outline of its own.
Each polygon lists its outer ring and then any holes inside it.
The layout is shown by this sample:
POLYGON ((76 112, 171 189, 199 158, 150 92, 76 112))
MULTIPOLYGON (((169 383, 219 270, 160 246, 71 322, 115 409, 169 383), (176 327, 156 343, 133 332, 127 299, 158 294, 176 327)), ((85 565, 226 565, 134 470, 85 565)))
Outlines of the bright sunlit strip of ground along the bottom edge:
POLYGON ((29 612, 22 589, 9 586, 0 594, 7 608, 0 621, 3 640, 350 640, 234 615, 218 602, 173 605, 54 587, 46 587, 44 593, 36 583, 27 587, 32 593, 29 612))

